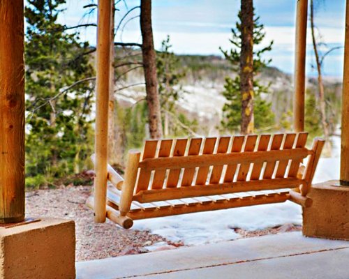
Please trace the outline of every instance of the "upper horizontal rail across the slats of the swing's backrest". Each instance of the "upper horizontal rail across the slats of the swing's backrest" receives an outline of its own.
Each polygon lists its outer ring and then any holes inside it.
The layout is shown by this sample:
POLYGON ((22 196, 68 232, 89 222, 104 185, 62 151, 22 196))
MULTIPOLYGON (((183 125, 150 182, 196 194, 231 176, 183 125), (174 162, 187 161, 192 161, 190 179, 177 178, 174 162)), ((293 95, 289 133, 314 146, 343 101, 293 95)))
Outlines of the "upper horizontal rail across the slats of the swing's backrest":
POLYGON ((235 165, 242 163, 275 162, 276 160, 301 160, 312 151, 306 148, 255 151, 242 153, 202 154, 184 157, 149 158, 138 165, 141 169, 181 169, 210 165, 235 165))

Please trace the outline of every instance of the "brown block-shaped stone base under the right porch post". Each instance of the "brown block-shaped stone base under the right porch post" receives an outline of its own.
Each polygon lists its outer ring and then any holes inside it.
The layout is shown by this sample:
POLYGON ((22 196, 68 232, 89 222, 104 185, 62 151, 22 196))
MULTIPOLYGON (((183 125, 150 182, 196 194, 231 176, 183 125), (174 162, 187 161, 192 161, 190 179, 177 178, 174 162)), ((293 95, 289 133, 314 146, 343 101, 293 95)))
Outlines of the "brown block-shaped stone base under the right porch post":
POLYGON ((327 181, 311 187, 313 205, 303 209, 303 234, 349 240, 349 187, 327 181))

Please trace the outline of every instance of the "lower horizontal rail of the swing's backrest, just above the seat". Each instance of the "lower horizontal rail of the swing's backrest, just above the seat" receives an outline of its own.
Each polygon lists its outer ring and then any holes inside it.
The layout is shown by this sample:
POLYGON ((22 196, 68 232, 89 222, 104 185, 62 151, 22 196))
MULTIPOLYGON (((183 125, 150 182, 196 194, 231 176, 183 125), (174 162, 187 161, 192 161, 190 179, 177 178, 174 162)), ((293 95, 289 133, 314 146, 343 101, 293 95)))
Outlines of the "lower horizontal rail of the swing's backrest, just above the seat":
POLYGON ((297 178, 264 179, 255 181, 230 182, 179 188, 156 190, 142 190, 133 196, 133 200, 141 203, 158 202, 167 199, 182 199, 185 197, 204 197, 209 195, 223 195, 239 192, 275 190, 283 188, 296 188, 304 180, 297 178))

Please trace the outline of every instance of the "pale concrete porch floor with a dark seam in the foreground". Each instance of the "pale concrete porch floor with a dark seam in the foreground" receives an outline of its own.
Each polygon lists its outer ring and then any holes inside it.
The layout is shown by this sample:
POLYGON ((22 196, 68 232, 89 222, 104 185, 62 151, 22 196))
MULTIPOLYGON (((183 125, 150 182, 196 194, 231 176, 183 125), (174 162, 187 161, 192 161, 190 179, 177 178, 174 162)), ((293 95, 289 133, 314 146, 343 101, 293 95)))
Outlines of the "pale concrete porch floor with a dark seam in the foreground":
POLYGON ((348 279, 349 241, 290 232, 77 262, 76 271, 77 279, 348 279))

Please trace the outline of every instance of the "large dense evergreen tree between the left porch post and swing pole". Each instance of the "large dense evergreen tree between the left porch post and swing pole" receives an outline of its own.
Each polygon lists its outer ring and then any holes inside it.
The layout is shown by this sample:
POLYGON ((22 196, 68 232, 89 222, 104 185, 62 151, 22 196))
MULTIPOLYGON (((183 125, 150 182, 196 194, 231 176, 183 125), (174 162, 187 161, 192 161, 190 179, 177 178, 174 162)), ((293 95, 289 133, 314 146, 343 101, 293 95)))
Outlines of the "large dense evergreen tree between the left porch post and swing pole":
POLYGON ((57 23, 66 0, 27 0, 27 176, 80 172, 91 153, 89 45, 57 23), (75 84, 75 86, 72 86, 75 84))

